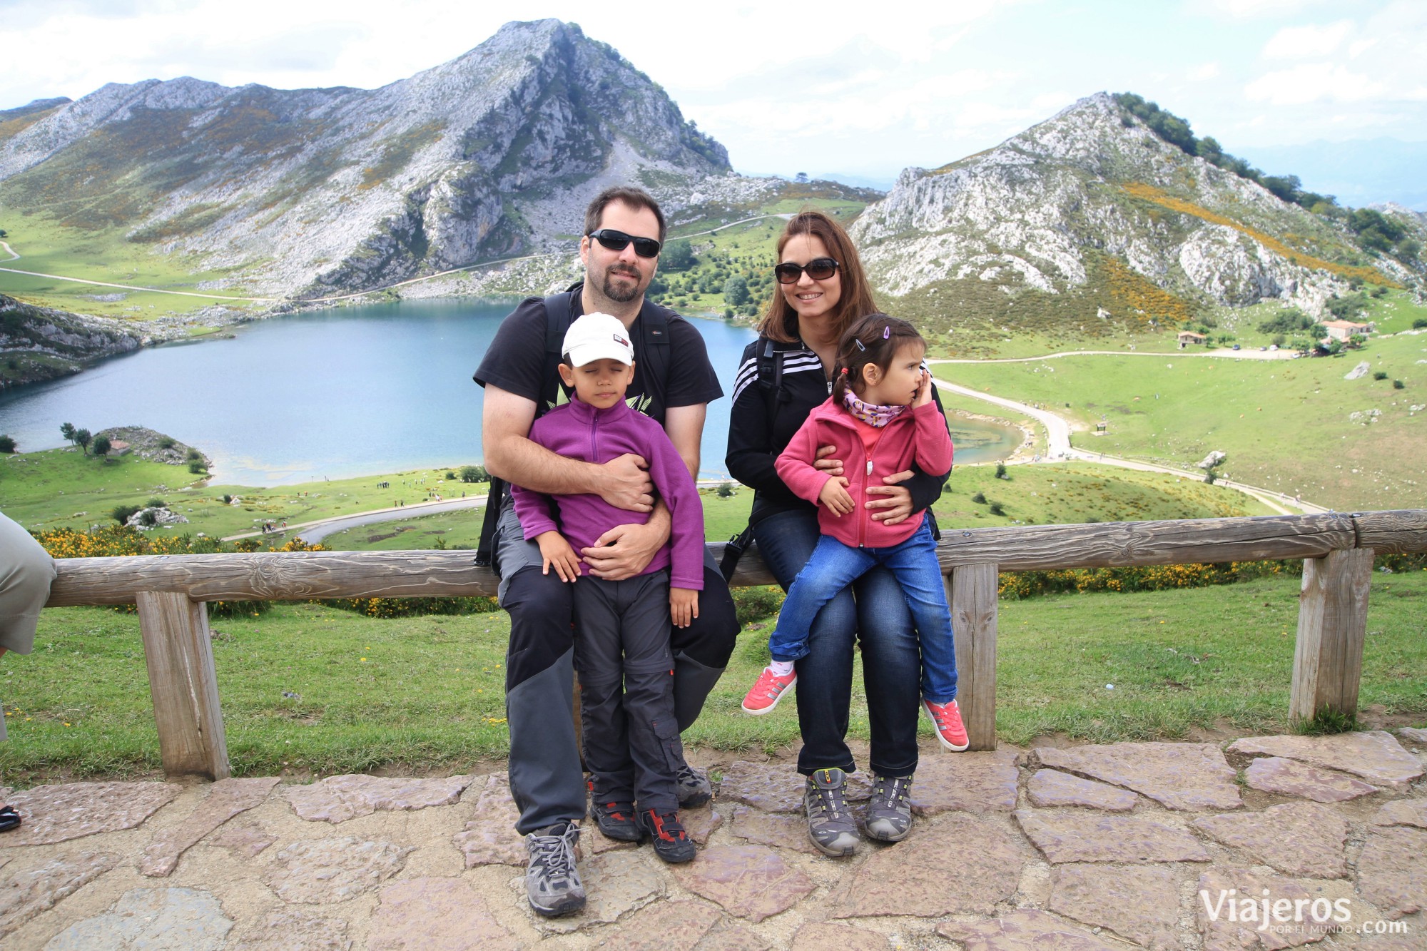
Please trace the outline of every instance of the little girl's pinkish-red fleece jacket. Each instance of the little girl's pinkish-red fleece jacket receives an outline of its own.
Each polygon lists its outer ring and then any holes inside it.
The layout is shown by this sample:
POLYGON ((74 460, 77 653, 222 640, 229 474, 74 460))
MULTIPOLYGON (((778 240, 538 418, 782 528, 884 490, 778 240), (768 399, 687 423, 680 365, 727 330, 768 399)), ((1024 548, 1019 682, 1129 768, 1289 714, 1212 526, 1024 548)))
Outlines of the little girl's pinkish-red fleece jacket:
POLYGON ((952 471, 952 434, 946 431, 946 418, 935 403, 919 406, 898 414, 890 423, 876 430, 860 421, 828 397, 802 424, 788 448, 778 457, 778 476, 799 498, 818 505, 818 525, 822 534, 832 535, 852 548, 886 548, 900 544, 922 527, 925 513, 916 513, 896 525, 885 525, 872 520, 876 510, 863 504, 878 498, 868 495, 868 485, 882 485, 882 477, 910 468, 916 461, 929 476, 952 471), (880 433, 869 451, 859 430, 880 433), (819 446, 833 446, 832 458, 842 460, 842 474, 848 478, 848 494, 858 507, 850 514, 835 515, 819 504, 823 484, 832 478, 828 473, 813 468, 819 446))

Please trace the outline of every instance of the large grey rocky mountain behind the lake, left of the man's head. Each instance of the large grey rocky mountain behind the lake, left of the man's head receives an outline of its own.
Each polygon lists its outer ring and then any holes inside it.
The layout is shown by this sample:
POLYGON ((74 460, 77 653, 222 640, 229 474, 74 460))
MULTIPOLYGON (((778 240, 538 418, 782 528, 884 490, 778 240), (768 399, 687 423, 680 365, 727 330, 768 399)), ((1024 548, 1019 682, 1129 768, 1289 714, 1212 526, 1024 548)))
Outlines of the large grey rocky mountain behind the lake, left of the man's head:
POLYGON ((0 207, 117 228, 268 296, 568 247, 608 183, 676 206, 731 176, 661 87, 558 20, 375 90, 184 77, 0 116, 0 207))

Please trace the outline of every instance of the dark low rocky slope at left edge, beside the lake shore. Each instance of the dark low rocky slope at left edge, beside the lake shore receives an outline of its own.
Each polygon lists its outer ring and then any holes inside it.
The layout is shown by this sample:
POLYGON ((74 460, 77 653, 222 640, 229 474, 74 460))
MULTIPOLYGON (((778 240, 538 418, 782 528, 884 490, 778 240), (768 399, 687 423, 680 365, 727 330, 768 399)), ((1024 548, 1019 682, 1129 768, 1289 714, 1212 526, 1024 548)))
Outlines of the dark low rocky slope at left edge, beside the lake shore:
POLYGON ((0 294, 0 390, 78 373, 84 363, 137 350, 121 320, 34 307, 0 294))

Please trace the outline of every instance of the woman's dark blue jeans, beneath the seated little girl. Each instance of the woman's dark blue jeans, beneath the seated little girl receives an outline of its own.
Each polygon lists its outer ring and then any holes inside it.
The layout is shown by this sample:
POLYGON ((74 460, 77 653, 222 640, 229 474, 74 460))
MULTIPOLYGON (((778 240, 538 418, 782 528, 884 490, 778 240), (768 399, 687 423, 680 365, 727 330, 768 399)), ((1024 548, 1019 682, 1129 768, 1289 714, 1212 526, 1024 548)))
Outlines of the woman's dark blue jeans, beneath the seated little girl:
MULTIPOLYGON (((785 591, 821 538, 818 515, 811 508, 768 515, 753 525, 758 553, 785 591)), ((916 628, 896 578, 876 567, 838 591, 812 618, 795 691, 803 741, 798 771, 803 775, 823 768, 856 770, 846 737, 852 653, 859 643, 872 740, 868 765, 879 775, 916 773, 922 664, 916 628)))

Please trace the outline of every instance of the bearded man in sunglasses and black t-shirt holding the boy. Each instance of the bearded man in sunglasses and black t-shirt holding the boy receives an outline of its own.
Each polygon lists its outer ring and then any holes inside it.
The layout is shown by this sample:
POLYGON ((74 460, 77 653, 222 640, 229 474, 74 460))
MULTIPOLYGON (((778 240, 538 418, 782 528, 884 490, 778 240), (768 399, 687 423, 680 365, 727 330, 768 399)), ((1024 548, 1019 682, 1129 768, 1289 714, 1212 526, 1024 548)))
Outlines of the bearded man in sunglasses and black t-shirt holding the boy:
MULTIPOLYGON (((599 578, 638 574, 669 538, 669 513, 654 495, 645 460, 621 456, 604 464, 581 463, 537 446, 528 434, 538 416, 569 397, 559 383, 558 343, 552 340, 581 314, 612 314, 634 343, 635 376, 626 390, 631 406, 664 426, 698 477, 705 408, 723 391, 698 330, 645 300, 664 237, 664 211, 648 193, 626 187, 599 193, 585 211, 579 240, 585 280, 564 294, 522 301, 501 324, 475 371, 475 381, 485 387, 481 426, 492 476, 551 495, 601 495, 631 513, 631 524, 612 528, 579 553, 584 571, 599 578)), ((498 503, 492 491, 488 505, 498 503)), ((515 828, 529 848, 527 892, 537 912, 568 914, 585 904, 574 855, 578 821, 585 817, 585 783, 572 723, 572 597, 557 573, 542 571, 539 547, 524 541, 508 498, 495 513, 495 537, 489 545, 482 543, 482 550, 492 553, 501 575, 501 607, 511 615, 505 710, 511 792, 521 811, 515 828)), ((699 614, 689 627, 671 628, 678 723, 659 727, 666 734, 659 734, 664 748, 656 751, 676 774, 684 807, 706 802, 711 788, 684 761, 678 734, 702 710, 736 634, 728 584, 706 557, 699 614)))

